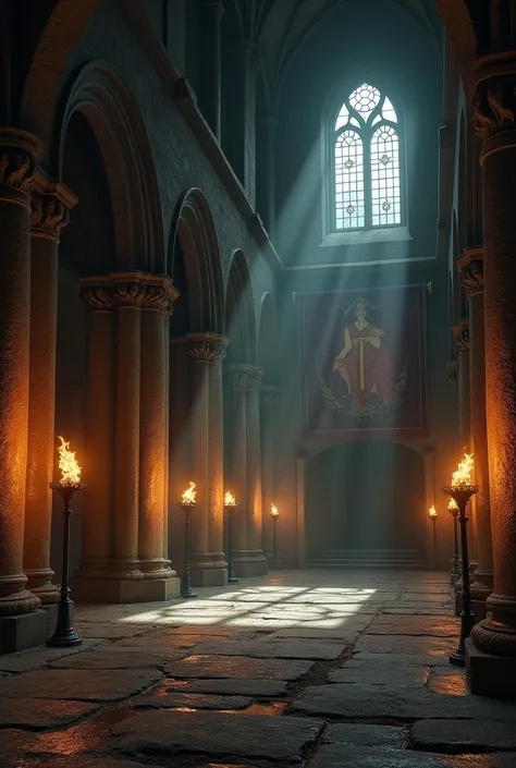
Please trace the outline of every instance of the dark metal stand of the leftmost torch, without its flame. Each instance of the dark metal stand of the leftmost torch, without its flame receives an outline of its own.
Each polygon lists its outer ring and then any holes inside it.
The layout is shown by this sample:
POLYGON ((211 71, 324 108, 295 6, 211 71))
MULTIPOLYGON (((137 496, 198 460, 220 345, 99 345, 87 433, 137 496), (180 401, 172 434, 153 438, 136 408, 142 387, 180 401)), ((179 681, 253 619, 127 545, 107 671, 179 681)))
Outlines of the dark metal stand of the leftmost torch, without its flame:
POLYGON ((82 638, 73 629, 72 607, 73 602, 70 599, 69 587, 69 570, 70 570, 70 519, 72 516, 72 499, 85 486, 82 484, 65 485, 60 483, 51 483, 52 490, 59 490, 64 503, 64 527, 63 527, 63 565, 61 575, 61 586, 59 588, 60 600, 58 606, 58 622, 56 631, 48 638, 47 645, 56 648, 71 648, 82 644, 82 638))

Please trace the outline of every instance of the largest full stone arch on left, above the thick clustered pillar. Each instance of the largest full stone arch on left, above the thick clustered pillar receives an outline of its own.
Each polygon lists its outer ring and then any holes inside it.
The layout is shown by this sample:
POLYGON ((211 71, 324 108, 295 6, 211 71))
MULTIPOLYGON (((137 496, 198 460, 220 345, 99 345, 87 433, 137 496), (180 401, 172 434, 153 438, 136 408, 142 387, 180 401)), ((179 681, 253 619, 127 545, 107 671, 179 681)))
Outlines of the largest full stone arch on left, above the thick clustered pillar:
POLYGON ((88 121, 106 168, 119 269, 164 273, 161 204, 153 158, 136 101, 119 72, 106 62, 86 64, 72 83, 47 156, 61 178, 72 117, 88 121))

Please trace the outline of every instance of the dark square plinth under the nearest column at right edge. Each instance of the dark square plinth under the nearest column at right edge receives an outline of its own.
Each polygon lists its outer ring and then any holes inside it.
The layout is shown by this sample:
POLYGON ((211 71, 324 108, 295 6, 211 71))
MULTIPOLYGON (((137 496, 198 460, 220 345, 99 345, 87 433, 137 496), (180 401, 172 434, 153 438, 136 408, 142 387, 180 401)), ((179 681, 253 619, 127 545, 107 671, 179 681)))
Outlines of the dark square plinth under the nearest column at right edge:
POLYGON ((466 641, 466 679, 469 690, 477 696, 514 698, 516 656, 495 656, 479 650, 474 642, 466 641))

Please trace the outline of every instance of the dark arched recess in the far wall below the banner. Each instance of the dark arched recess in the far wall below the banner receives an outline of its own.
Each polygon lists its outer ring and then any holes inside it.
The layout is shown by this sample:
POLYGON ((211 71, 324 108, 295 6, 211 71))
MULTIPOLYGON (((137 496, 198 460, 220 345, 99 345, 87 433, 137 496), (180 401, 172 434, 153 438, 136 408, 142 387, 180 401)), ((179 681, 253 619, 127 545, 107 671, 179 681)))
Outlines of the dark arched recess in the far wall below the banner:
POLYGON ((346 442, 308 460, 308 561, 324 565, 423 562, 425 465, 395 442, 346 442))

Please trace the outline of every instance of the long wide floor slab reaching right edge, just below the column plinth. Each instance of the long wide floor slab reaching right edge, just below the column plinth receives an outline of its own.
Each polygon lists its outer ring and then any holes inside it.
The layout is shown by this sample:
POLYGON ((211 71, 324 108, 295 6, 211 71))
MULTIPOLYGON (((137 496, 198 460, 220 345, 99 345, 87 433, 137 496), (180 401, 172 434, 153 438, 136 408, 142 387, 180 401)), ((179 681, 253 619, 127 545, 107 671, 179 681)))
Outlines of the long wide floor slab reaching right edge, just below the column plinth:
POLYGON ((516 720, 516 703, 479 696, 437 696, 425 687, 390 687, 356 683, 315 685, 294 702, 293 709, 321 717, 419 720, 484 718, 516 720))

